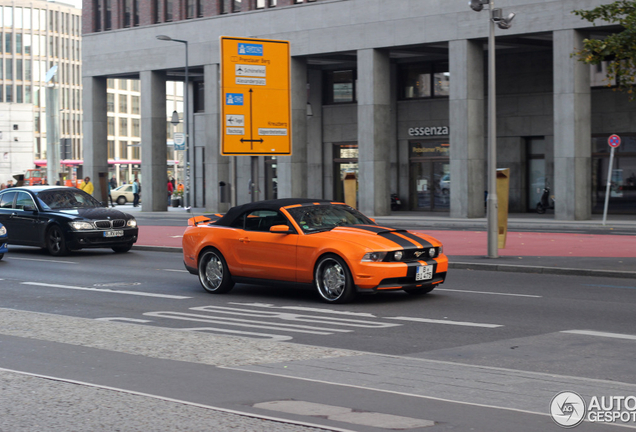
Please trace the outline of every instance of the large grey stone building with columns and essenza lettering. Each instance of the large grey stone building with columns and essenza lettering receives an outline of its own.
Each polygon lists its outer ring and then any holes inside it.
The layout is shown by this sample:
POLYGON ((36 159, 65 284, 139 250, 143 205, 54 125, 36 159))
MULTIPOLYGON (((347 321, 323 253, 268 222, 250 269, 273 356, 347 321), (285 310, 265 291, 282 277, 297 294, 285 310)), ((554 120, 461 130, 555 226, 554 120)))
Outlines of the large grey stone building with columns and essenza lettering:
MULTIPOLYGON (((511 170, 510 211, 532 211, 545 185, 558 219, 602 211, 616 133, 610 213, 636 213, 636 103, 571 56, 614 30, 572 14, 579 2, 497 5, 516 14, 496 31, 497 163, 511 170)), ((107 80, 139 80, 144 210, 165 209, 165 83, 184 80, 187 54, 193 205, 225 210, 221 182, 237 203, 342 200, 353 171, 367 214, 388 214, 397 193, 404 210, 481 217, 488 17, 460 1, 85 0, 85 170, 106 169, 107 80), (293 153, 259 157, 254 194, 250 158, 219 153, 220 36, 290 41, 293 153)))

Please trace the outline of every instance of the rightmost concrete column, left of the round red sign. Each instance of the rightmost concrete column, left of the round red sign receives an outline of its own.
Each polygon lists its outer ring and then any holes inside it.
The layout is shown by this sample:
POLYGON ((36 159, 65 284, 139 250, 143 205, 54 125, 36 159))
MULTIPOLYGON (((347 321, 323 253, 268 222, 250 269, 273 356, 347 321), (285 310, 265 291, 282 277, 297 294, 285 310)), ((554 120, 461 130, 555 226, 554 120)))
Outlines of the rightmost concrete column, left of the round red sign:
POLYGON ((576 30, 553 33, 555 218, 592 215, 590 67, 570 55, 583 45, 576 30))

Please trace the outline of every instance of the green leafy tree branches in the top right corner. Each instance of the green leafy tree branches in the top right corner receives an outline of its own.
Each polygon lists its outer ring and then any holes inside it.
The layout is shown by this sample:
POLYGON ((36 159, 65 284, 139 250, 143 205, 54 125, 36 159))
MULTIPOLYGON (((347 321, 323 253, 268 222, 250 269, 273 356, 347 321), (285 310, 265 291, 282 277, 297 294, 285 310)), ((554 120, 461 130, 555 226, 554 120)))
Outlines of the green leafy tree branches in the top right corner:
MULTIPOLYGON (((620 26, 617 32, 603 39, 584 39, 583 48, 575 51, 573 56, 591 65, 607 61, 608 81, 616 78, 618 90, 628 93, 631 100, 636 99, 634 91, 636 83, 636 1, 617 0, 591 10, 575 10, 572 13, 591 23, 601 20, 620 26)), ((594 23, 594 25, 596 24, 594 23)))

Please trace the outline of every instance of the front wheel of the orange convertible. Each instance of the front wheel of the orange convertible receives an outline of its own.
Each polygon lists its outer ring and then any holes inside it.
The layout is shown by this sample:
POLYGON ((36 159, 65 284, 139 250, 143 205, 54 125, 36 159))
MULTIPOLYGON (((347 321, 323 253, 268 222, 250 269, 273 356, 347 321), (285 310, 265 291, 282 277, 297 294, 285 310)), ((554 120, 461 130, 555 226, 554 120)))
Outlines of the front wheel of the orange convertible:
POLYGON ((318 261, 314 283, 318 294, 329 303, 346 303, 355 295, 351 271, 336 255, 327 255, 318 261))

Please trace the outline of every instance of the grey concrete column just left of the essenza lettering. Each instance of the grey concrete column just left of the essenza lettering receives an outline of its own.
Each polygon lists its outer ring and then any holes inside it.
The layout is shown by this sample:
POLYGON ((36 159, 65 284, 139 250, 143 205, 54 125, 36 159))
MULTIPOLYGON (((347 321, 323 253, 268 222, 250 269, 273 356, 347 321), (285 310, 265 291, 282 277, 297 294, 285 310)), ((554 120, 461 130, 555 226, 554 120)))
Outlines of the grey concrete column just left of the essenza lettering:
POLYGON ((358 51, 358 205, 370 216, 390 212, 389 141, 391 68, 389 54, 358 51))

